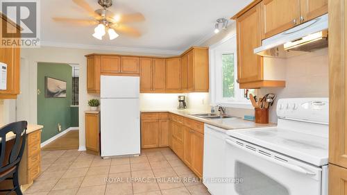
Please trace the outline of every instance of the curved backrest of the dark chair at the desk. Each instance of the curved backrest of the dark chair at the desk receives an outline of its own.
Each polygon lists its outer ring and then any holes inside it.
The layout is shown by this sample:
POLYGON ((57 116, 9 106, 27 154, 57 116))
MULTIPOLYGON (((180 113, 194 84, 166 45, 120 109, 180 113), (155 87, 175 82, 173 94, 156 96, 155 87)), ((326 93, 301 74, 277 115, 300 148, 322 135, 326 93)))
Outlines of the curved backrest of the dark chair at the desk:
POLYGON ((28 123, 26 121, 19 121, 0 128, 0 173, 19 164, 22 159, 26 143, 27 126, 28 123), (8 144, 12 148, 6 150, 6 141, 8 141, 6 140, 6 134, 8 133, 14 133, 15 139, 13 145, 8 144), (10 153, 7 151, 10 151, 10 153))

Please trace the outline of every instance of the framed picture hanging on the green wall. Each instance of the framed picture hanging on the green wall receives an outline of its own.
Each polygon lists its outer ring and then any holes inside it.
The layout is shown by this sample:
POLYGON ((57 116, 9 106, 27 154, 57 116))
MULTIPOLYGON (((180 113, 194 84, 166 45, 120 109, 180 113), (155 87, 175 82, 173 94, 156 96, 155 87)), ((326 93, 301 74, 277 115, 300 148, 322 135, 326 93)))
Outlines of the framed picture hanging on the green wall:
POLYGON ((66 81, 49 76, 46 76, 44 80, 44 96, 46 98, 66 98, 66 81))

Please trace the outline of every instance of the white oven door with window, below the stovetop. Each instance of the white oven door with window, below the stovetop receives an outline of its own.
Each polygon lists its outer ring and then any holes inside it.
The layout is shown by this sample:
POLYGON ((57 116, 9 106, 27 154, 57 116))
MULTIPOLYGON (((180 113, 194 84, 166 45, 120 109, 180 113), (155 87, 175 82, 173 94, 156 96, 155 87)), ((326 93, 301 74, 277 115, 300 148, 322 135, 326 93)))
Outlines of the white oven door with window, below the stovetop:
POLYGON ((226 194, 321 195, 319 167, 235 137, 226 145, 226 194))

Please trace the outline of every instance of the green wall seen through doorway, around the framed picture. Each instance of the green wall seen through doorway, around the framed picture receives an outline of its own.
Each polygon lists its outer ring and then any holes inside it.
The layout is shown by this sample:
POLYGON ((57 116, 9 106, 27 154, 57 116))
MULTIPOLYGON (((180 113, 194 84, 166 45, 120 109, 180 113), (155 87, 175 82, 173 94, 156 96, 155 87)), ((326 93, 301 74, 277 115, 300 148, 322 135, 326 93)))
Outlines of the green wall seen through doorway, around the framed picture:
MULTIPOLYGON (((71 127, 71 99, 72 99, 72 69, 67 64, 45 63, 37 64, 37 124, 43 125, 41 142, 57 135, 58 124, 62 130, 71 127), (57 78, 67 82, 66 98, 45 98, 44 77, 57 78)), ((77 125, 78 126, 78 125, 77 125)))

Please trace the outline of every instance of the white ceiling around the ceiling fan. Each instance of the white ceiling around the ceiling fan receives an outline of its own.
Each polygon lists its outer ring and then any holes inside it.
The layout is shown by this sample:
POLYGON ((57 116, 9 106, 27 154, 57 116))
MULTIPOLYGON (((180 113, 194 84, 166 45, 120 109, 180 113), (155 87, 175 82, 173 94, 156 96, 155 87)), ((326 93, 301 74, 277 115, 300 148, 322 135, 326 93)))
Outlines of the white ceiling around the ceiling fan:
MULTIPOLYGON (((86 0, 92 8, 101 8, 97 0, 86 0)), ((41 39, 43 45, 114 46, 183 51, 193 44, 212 36, 214 23, 219 17, 229 18, 252 0, 113 0, 112 12, 121 14, 142 12, 146 21, 132 23, 142 36, 120 35, 115 40, 96 40, 92 37, 95 26, 74 26, 53 22, 51 17, 88 19, 87 12, 71 0, 44 0, 41 2, 41 39)))

